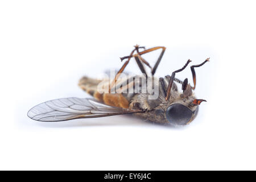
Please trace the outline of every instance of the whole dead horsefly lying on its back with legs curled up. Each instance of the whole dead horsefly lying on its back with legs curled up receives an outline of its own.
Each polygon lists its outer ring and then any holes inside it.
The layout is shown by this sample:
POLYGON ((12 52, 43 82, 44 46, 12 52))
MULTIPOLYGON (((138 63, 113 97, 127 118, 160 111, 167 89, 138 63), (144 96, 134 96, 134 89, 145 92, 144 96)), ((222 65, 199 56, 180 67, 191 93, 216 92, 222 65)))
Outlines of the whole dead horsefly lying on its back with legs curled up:
POLYGON ((97 80, 82 77, 79 86, 94 98, 60 98, 43 102, 28 111, 28 117, 36 121, 55 122, 67 121, 79 118, 97 118, 111 115, 128 114, 144 118, 147 121, 179 126, 187 125, 195 119, 199 105, 203 99, 197 99, 193 93, 196 88, 195 68, 203 63, 191 66, 193 86, 185 78, 181 81, 175 77, 176 73, 183 71, 191 60, 188 60, 183 68, 172 72, 171 76, 154 77, 156 68, 162 59, 166 47, 134 46, 129 56, 121 57, 121 61, 127 59, 121 69, 115 73, 114 78, 97 80), (142 51, 140 51, 143 49, 142 51), (143 59, 142 55, 162 49, 154 67, 143 59), (142 72, 142 76, 133 75, 123 77, 123 71, 130 60, 134 58, 142 72), (151 69, 148 74, 144 65, 151 69), (181 84, 182 92, 177 89, 181 84))

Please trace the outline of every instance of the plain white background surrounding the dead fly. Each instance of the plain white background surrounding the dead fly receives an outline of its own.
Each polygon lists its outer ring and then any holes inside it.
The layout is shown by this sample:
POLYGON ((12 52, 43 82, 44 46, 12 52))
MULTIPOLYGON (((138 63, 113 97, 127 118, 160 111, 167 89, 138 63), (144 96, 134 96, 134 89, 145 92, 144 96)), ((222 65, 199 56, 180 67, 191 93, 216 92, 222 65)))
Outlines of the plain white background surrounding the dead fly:
MULTIPOLYGON (((255 17, 254 1, 1 1, 0 169, 256 169, 255 17), (157 76, 210 57, 191 125, 27 118, 40 102, 89 97, 79 78, 120 68, 135 44, 167 47, 157 76)), ((134 61, 127 71, 139 73, 134 61)), ((192 81, 189 68, 177 77, 192 81)))

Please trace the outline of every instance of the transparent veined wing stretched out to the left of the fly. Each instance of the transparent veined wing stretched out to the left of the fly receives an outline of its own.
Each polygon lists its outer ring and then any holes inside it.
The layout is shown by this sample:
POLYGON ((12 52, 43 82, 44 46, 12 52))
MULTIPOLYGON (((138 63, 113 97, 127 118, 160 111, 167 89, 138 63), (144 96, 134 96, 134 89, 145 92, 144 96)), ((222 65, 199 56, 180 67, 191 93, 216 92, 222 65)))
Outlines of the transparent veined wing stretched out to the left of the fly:
POLYGON ((141 110, 112 107, 90 98, 70 97, 43 102, 30 109, 27 115, 36 121, 66 121, 137 112, 141 110))

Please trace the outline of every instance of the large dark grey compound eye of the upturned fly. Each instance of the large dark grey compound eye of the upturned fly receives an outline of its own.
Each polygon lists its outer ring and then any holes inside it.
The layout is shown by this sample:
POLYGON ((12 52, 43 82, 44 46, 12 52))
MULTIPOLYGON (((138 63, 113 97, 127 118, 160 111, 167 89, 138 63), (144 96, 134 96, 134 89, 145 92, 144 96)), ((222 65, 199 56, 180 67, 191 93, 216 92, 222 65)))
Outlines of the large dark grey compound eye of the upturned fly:
POLYGON ((182 104, 172 104, 166 111, 166 118, 173 125, 186 125, 191 117, 192 110, 182 104))

